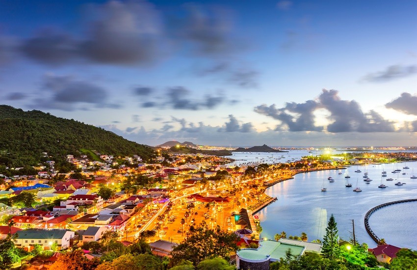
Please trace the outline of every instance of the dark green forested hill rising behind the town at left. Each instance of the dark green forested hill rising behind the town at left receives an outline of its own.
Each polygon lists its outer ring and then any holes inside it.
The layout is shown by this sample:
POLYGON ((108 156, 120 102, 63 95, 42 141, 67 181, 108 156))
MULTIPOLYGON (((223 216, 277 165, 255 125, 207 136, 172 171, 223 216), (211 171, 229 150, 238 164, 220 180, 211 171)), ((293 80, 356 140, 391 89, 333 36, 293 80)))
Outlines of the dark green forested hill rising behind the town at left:
POLYGON ((69 154, 78 156, 81 152, 122 157, 136 154, 149 160, 155 153, 149 146, 73 119, 0 105, 0 165, 36 165, 48 159, 42 152, 54 160, 62 160, 69 154))

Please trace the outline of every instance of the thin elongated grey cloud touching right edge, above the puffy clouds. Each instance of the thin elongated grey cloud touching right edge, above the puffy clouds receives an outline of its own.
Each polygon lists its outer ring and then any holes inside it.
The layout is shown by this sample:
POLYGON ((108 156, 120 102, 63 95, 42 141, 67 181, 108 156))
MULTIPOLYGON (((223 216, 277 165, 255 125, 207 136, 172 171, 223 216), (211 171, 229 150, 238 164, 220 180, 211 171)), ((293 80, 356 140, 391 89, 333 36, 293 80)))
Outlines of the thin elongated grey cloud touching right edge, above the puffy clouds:
POLYGON ((370 73, 362 78, 362 81, 384 82, 412 76, 417 73, 417 65, 392 65, 383 71, 370 73))

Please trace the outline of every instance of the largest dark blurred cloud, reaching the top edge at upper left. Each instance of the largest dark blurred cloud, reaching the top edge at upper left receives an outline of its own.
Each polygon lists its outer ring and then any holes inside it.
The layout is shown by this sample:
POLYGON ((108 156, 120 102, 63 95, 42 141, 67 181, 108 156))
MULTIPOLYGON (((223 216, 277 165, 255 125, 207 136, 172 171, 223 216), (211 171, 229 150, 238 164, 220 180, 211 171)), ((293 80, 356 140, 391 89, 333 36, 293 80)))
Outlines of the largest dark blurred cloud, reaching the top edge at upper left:
POLYGON ((86 36, 42 31, 23 41, 20 51, 45 64, 63 64, 75 59, 99 64, 150 63, 158 57, 162 27, 154 6, 145 1, 90 4, 93 18, 86 36))

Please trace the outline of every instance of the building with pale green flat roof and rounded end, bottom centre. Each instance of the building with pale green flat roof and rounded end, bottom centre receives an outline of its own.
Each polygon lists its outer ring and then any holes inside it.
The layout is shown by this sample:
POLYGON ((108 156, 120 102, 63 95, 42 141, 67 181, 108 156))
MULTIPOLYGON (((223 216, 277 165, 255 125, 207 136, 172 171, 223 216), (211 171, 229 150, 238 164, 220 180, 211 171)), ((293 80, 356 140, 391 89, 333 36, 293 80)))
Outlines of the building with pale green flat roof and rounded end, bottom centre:
POLYGON ((285 258, 289 248, 294 256, 303 255, 306 249, 301 245, 260 241, 258 248, 243 248, 236 252, 236 267, 240 270, 269 270, 269 264, 285 258))

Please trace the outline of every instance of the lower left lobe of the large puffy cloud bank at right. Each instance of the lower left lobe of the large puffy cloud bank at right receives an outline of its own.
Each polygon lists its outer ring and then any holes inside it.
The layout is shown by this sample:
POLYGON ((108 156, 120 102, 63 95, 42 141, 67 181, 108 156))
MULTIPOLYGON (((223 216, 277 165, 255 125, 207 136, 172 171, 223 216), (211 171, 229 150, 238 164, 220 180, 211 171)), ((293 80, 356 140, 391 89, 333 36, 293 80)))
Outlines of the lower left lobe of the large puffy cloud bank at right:
POLYGON ((282 130, 288 128, 289 131, 322 131, 323 127, 316 127, 314 125, 313 111, 319 105, 313 101, 308 100, 305 103, 287 103, 284 108, 276 108, 275 104, 267 106, 266 104, 255 107, 255 111, 266 116, 271 116, 274 119, 282 122, 278 129, 282 130), (296 116, 293 116, 293 115, 296 116))

